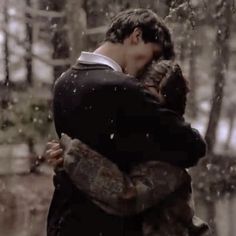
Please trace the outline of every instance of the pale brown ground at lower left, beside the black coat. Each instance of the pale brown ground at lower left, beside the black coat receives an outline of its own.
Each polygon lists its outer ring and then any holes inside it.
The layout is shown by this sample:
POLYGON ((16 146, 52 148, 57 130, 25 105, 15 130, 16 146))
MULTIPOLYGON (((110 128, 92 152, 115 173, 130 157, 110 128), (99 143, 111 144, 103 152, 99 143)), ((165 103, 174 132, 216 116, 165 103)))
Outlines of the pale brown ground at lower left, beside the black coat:
POLYGON ((41 175, 0 176, 0 235, 46 235, 52 191, 48 171, 41 175))

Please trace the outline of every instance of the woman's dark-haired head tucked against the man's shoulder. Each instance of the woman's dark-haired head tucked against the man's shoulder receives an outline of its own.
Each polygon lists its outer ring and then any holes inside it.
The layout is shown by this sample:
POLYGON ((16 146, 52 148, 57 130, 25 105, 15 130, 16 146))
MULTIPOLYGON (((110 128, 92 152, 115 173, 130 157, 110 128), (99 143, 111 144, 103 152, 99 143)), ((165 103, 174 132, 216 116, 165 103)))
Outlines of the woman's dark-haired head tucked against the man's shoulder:
POLYGON ((178 64, 168 60, 153 63, 142 75, 142 80, 166 108, 184 114, 189 83, 178 64))

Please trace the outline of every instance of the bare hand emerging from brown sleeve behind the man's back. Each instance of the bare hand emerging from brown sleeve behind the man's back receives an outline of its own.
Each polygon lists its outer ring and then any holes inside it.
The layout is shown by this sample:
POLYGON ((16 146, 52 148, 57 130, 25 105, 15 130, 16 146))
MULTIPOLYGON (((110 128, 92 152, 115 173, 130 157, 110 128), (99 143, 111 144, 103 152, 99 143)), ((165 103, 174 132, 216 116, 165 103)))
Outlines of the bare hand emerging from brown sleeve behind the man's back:
POLYGON ((46 145, 45 159, 54 168, 63 166, 63 148, 59 141, 52 140, 46 145))

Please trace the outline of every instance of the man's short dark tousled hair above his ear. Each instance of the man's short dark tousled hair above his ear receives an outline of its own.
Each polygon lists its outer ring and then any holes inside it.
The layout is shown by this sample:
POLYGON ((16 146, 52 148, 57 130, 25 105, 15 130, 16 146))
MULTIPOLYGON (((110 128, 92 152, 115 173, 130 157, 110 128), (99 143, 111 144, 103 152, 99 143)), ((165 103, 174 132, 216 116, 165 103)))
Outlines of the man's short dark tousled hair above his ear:
POLYGON ((158 43, 162 46, 162 58, 174 59, 174 46, 171 34, 164 21, 149 9, 130 9, 115 16, 106 32, 105 41, 123 43, 139 28, 145 43, 158 43))

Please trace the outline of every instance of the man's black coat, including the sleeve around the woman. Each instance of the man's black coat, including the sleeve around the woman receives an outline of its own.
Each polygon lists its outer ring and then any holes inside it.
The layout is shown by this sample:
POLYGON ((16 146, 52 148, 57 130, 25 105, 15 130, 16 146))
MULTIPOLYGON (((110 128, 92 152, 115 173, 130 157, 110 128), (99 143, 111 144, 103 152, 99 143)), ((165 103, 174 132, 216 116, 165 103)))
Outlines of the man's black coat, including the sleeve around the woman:
MULTIPOLYGON (((135 78, 105 65, 77 64, 55 84, 54 121, 66 133, 97 150, 123 171, 135 163, 162 160, 190 167, 205 154, 197 131, 135 78)), ((142 235, 141 216, 112 216, 76 189, 63 170, 54 176, 48 236, 142 235)))

